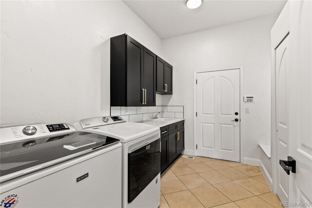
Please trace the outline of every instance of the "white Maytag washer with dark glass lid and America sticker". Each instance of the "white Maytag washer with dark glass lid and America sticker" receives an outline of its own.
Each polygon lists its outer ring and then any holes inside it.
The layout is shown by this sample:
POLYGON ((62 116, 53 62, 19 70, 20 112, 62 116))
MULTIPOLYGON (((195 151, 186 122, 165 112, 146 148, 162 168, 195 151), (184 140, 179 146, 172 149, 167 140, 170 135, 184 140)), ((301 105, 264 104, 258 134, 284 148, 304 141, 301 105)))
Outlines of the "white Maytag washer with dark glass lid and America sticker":
POLYGON ((120 208, 121 144, 69 124, 0 129, 0 208, 120 208))

